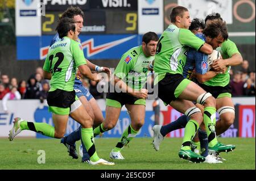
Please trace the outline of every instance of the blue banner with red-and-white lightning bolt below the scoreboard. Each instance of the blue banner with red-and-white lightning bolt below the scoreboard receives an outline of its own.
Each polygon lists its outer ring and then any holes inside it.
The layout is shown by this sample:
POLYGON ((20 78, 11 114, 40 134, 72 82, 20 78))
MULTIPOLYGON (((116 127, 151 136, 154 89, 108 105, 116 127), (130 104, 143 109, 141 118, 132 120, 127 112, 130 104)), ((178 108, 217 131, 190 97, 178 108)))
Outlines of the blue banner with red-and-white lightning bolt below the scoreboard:
MULTIPOLYGON (((53 36, 17 37, 18 60, 44 60, 53 36), (26 46, 24 46, 26 42, 26 46), (40 46, 40 47, 39 47, 40 46), (30 52, 30 53, 27 53, 30 52)), ((119 59, 130 48, 141 45, 141 35, 81 35, 84 56, 90 59, 119 59)))

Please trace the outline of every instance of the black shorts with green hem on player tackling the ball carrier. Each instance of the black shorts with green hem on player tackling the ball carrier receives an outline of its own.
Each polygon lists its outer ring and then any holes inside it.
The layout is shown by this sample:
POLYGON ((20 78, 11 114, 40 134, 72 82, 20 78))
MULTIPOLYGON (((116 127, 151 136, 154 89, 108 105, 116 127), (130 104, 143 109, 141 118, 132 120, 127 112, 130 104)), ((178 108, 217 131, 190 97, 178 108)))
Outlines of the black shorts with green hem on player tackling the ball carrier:
POLYGON ((158 97, 163 100, 164 104, 170 104, 173 100, 177 99, 175 95, 180 95, 184 89, 176 90, 176 88, 183 81, 184 87, 187 87, 188 83, 191 82, 181 74, 166 73, 166 76, 158 82, 158 97))

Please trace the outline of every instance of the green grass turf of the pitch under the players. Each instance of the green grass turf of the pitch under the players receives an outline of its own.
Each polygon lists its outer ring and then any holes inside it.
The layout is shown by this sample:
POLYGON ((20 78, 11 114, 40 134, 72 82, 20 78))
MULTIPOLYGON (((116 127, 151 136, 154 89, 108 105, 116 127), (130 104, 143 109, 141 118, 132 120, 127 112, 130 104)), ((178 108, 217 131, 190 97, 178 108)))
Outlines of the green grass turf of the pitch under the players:
MULTIPOLYGON (((117 143, 117 138, 96 138, 96 149, 101 158, 108 159, 110 150, 117 143)), ((0 139, 1 169, 253 169, 255 170, 255 138, 218 138, 224 144, 234 144, 237 148, 232 153, 222 153, 224 163, 189 163, 181 160, 177 153, 181 146, 181 138, 165 138, 160 150, 152 148, 152 138, 135 138, 125 147, 122 153, 125 160, 114 161, 115 166, 92 166, 81 163, 81 158, 72 159, 60 140, 15 138, 10 142, 0 139), (46 163, 38 163, 38 150, 46 153, 46 163)), ((77 149, 80 141, 77 142, 77 149)))

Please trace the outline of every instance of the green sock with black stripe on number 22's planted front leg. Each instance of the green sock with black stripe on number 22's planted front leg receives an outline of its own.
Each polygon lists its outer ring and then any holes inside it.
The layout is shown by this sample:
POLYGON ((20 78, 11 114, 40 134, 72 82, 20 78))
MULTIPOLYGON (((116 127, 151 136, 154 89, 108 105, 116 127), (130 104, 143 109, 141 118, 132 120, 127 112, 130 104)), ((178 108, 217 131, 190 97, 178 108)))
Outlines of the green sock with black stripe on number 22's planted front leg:
POLYGON ((84 142, 85 148, 89 154, 90 160, 93 162, 98 161, 100 158, 97 155, 94 145, 93 129, 82 128, 81 129, 82 142, 84 142))

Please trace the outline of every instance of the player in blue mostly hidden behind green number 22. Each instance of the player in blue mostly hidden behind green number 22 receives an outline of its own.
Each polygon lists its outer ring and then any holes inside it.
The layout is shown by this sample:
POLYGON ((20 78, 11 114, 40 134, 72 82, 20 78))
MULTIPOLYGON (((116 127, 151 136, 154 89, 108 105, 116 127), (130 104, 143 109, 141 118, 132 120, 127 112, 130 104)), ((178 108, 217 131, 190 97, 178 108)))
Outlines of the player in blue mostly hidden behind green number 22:
MULTIPOLYGON (((84 23, 84 12, 79 7, 72 7, 72 6, 69 7, 67 10, 63 12, 60 19, 61 18, 72 18, 73 20, 75 20, 77 25, 77 32, 78 34, 80 34, 80 32, 82 31, 83 23, 84 23)), ((51 45, 56 41, 59 41, 59 39, 60 39, 59 35, 58 33, 56 33, 56 35, 53 37, 51 41, 51 45)), ((76 41, 81 44, 81 41, 79 38, 76 41)), ((98 73, 105 72, 107 74, 110 74, 109 68, 94 65, 92 64, 92 62, 90 62, 87 59, 86 59, 86 63, 87 63, 86 65, 88 66, 88 68, 90 68, 90 70, 96 70, 98 73)), ((74 90, 76 92, 77 97, 81 101, 81 103, 85 106, 85 109, 88 112, 89 116, 92 117, 93 128, 94 128, 94 127, 97 127, 99 124, 101 124, 102 121, 104 121, 104 117, 102 115, 102 112, 96 100, 93 98, 90 92, 82 86, 82 82, 80 81, 82 77, 80 75, 81 74, 79 73, 79 70, 77 70, 74 90)), ((81 133, 81 125, 75 131, 61 138, 60 140, 60 142, 63 143, 68 148, 69 155, 72 158, 76 158, 76 159, 78 158, 78 154, 76 151, 75 142, 78 140, 81 140, 80 133, 81 133)), ((81 146, 82 148, 84 148, 82 149, 82 162, 90 163, 89 155, 82 141, 81 141, 81 146)))

